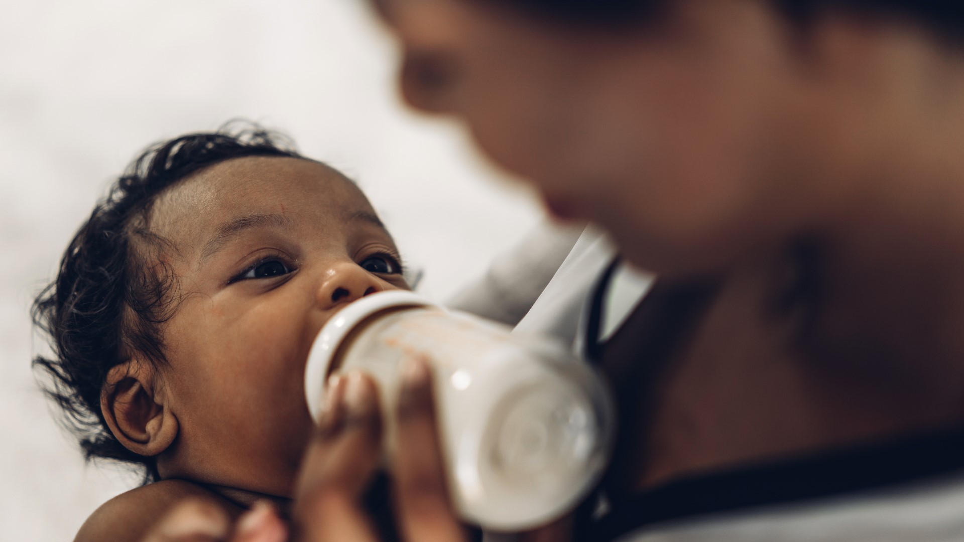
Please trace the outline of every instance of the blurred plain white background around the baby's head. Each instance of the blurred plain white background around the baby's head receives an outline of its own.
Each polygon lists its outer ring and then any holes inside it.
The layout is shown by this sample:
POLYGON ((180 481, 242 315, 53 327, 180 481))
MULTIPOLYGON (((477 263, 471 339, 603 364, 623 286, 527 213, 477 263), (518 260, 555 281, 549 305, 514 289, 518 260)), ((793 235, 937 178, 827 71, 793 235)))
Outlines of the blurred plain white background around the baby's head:
POLYGON ((357 179, 440 299, 542 217, 457 125, 395 95, 361 0, 0 0, 0 538, 70 540, 136 483, 85 467, 30 368, 33 296, 147 144, 246 118, 357 179))

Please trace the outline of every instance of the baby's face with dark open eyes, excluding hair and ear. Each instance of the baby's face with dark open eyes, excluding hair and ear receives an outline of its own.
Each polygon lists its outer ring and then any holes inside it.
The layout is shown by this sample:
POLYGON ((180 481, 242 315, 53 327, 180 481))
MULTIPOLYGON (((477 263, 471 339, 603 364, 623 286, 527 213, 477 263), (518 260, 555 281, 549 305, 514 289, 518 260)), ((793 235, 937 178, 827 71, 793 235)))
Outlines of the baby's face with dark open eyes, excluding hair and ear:
POLYGON ((408 288, 388 231, 343 176, 285 157, 203 170, 151 221, 174 245, 182 296, 164 328, 161 385, 179 434, 162 475, 290 495, 311 429, 312 340, 346 303, 408 288))

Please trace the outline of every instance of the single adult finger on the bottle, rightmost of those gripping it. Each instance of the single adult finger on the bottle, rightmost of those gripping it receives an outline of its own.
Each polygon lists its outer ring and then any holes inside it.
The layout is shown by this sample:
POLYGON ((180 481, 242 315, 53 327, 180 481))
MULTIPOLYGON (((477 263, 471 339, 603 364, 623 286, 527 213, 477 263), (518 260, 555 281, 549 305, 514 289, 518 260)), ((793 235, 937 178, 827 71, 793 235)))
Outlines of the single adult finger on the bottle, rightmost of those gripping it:
POLYGON ((407 540, 417 542, 464 540, 445 488, 428 365, 424 359, 409 358, 401 373, 392 474, 402 531, 407 540))

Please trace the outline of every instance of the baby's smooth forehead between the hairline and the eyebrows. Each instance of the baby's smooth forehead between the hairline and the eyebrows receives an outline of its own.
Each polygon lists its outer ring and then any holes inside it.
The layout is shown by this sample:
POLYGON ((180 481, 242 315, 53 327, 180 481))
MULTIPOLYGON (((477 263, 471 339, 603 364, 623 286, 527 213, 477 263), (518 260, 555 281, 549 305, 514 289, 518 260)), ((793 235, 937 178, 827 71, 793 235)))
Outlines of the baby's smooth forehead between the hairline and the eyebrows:
POLYGON ((172 186, 151 208, 149 228, 186 249, 239 216, 297 220, 358 212, 374 214, 362 191, 335 169, 304 158, 248 156, 219 162, 172 186))

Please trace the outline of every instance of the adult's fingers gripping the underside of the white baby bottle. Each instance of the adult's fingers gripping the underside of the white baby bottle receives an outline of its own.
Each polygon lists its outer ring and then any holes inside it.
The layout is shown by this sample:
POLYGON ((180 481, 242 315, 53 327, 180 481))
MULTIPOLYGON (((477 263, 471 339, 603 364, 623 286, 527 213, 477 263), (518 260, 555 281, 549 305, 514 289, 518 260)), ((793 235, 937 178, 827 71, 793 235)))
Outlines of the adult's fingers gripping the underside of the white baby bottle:
MULTIPOLYGON (((431 373, 417 358, 404 361, 401 373, 391 465, 398 530, 410 541, 462 542, 445 487, 431 373)), ((378 389, 362 372, 336 376, 322 412, 298 482, 295 539, 375 542, 360 501, 382 457, 378 389)))

